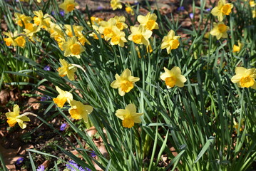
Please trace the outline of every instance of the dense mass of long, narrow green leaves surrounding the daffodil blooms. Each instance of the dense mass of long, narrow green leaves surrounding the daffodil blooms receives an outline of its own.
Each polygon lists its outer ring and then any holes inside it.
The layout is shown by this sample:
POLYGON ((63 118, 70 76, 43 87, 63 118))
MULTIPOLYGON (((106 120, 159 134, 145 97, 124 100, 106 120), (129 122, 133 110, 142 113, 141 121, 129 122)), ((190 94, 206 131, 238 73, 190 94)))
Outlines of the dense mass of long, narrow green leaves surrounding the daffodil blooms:
MULTIPOLYGON (((10 59, 9 63, 0 64, 4 65, 0 73, 14 73, 17 76, 17 79, 12 80, 8 78, 9 75, 4 75, 6 82, 31 84, 36 87, 35 90, 39 90, 38 86, 46 86, 46 90, 39 91, 52 98, 58 94, 53 87, 48 86, 48 83, 53 83, 53 86, 71 91, 75 100, 93 106, 88 123, 71 119, 63 112, 67 108, 53 108, 53 103, 45 111, 57 113, 56 115, 61 115, 66 120, 79 147, 66 138, 67 134, 61 134, 45 119, 39 117, 82 157, 81 159, 73 155, 58 145, 58 142, 54 142, 66 155, 66 161, 74 160, 78 165, 91 170, 95 170, 93 162, 102 170, 113 171, 175 168, 247 170, 256 159, 256 92, 252 88, 238 88, 230 78, 235 75, 236 66, 255 67, 256 20, 252 18, 251 10, 248 10, 248 2, 237 1, 234 3, 237 12, 232 12, 225 18, 225 23, 230 27, 229 37, 225 41, 217 41, 214 36, 205 38, 205 33, 213 28, 215 18, 205 10, 205 1, 201 0, 200 4, 201 6, 195 6, 193 1, 193 12, 199 9, 200 19, 197 22, 192 19, 192 29, 180 26, 178 19, 173 16, 161 16, 159 11, 152 11, 158 15, 160 26, 159 31, 153 31, 153 38, 150 39, 152 52, 148 52, 146 46, 135 45, 132 41, 128 41, 125 48, 121 48, 111 46, 101 37, 97 40, 88 36, 88 33, 93 31, 87 20, 85 21, 86 17, 90 16, 88 12, 85 15, 75 10, 63 18, 55 15, 53 17, 59 26, 83 26, 83 33, 91 45, 84 46, 86 51, 82 53, 81 58, 63 57, 63 51, 58 48, 56 41, 42 30, 37 34, 41 41, 27 42, 24 49, 11 51, 11 48, 0 45, 6 51, 5 56, 0 54, 0 60, 3 61, 6 57, 10 59), (189 37, 180 38, 180 47, 168 54, 165 49, 160 48, 160 44, 170 29, 173 29, 176 35, 177 31, 181 31, 189 37), (232 47, 238 40, 244 43, 244 46, 239 53, 233 53, 232 47), (141 58, 138 58, 136 47, 141 58), (51 71, 44 71, 41 63, 35 62, 39 56, 43 56, 43 61, 53 68, 51 71), (58 63, 59 58, 65 58, 68 63, 75 63, 83 68, 84 71, 78 68, 76 81, 58 76, 56 70, 61 66, 58 63), (167 89, 164 81, 160 81, 164 66, 169 69, 173 66, 181 68, 187 78, 185 87, 167 89), (28 68, 31 70, 28 71, 28 68), (126 68, 130 69, 133 76, 139 77, 140 81, 129 93, 121 97, 118 90, 111 88, 110 84, 115 80, 116 73, 120 75, 126 68), (42 81, 25 83, 28 81, 25 74, 31 71, 43 78, 42 81), (116 110, 125 108, 129 103, 134 103, 137 111, 144 113, 142 123, 135 124, 130 129, 123 128, 121 120, 115 115, 116 110), (234 120, 238 123, 236 129, 234 120), (245 120, 245 125, 241 124, 242 120, 245 120), (102 154, 93 138, 84 131, 92 125, 98 131, 96 138, 102 138, 108 155, 102 154), (88 148, 85 148, 82 142, 86 142, 88 148), (171 147, 178 155, 170 151, 171 147), (91 150, 98 156, 97 160, 88 155, 91 150), (161 155, 170 158, 170 163, 165 168, 159 165, 161 155)), ((182 5, 183 1, 180 6, 182 5)), ((23 7, 21 3, 6 4, 2 1, 0 7, 6 15, 5 21, 11 31, 20 29, 11 20, 11 12, 23 11, 24 14, 33 16, 32 4, 23 7)), ((58 13, 56 1, 43 2, 36 6, 36 9, 43 9, 43 14, 51 14, 51 11, 58 13)), ((126 19, 132 25, 135 23, 128 19, 128 16, 126 19)), ((126 30, 126 37, 128 34, 126 30)), ((31 79, 34 77, 36 76, 31 76, 31 79)), ((58 160, 56 168, 59 161, 65 162, 58 156, 45 152, 29 152, 55 157, 58 160)), ((31 154, 29 157, 32 168, 35 169, 31 154)))

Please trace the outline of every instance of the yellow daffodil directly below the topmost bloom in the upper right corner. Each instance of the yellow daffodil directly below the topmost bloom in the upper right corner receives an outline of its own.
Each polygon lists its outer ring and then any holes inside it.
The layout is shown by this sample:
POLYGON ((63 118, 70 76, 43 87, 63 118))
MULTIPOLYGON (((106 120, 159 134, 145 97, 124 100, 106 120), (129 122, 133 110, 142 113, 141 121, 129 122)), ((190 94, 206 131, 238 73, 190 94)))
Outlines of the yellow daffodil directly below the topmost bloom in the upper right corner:
POLYGON ((210 34, 217 37, 217 40, 220 38, 227 38, 227 31, 230 29, 229 26, 226 26, 222 21, 213 23, 214 28, 210 31, 210 34))

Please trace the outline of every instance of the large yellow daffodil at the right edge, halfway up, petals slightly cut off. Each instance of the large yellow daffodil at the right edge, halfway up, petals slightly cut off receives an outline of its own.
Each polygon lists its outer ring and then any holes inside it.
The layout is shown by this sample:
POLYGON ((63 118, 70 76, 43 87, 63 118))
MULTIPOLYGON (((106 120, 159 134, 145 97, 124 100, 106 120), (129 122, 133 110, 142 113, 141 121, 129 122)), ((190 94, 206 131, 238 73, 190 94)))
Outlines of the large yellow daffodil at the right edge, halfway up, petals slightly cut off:
POLYGON ((254 88, 256 89, 256 68, 246 69, 244 67, 235 68, 235 76, 231 78, 232 83, 237 83, 241 88, 254 88))

